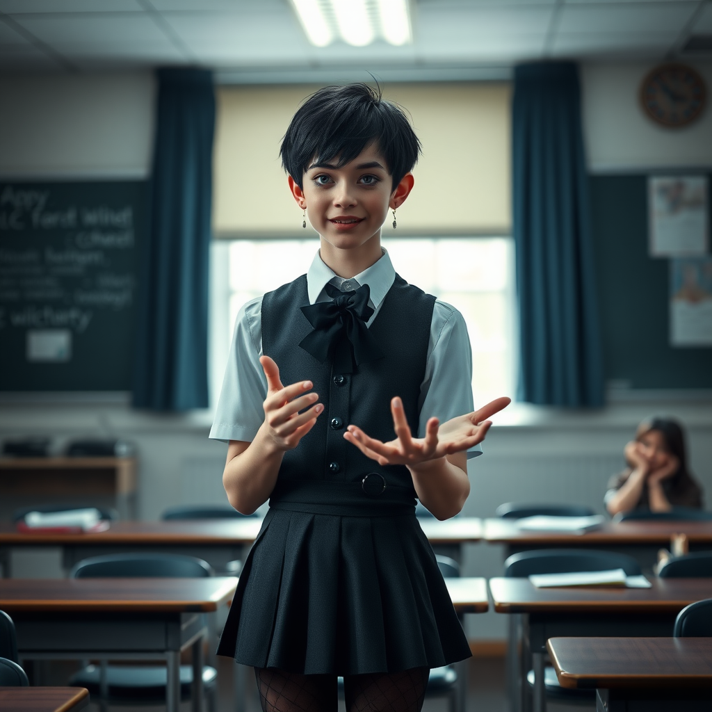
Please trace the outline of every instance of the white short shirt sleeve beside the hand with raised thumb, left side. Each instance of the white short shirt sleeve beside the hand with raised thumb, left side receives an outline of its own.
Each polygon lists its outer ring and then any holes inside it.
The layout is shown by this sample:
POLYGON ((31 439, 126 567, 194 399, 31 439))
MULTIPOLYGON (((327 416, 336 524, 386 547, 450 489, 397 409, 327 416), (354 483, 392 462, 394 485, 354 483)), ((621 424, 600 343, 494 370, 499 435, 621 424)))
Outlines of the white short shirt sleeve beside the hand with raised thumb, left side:
POLYGON ((248 301, 237 313, 230 355, 209 437, 253 441, 264 422, 262 404, 267 379, 259 362, 262 353, 262 298, 248 301))

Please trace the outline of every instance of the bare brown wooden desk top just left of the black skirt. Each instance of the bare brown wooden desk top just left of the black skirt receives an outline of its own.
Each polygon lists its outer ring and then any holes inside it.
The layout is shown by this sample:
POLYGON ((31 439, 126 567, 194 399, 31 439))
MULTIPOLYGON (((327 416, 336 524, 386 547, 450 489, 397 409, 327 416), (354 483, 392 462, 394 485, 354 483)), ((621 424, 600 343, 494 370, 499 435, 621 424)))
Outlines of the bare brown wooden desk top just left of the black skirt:
POLYGON ((0 610, 209 612, 231 601, 236 587, 233 577, 0 579, 0 610))

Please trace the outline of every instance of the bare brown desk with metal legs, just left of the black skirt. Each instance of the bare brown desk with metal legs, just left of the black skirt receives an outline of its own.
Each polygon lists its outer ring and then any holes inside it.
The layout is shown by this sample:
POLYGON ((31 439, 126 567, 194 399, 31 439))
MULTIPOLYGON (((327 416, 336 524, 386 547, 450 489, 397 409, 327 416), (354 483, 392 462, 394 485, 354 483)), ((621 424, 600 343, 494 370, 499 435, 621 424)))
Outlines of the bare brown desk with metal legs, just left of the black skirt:
POLYGON ((164 660, 167 709, 179 712, 180 653, 192 648, 193 708, 202 706, 205 614, 232 600, 236 578, 2 579, 0 610, 22 660, 164 660))

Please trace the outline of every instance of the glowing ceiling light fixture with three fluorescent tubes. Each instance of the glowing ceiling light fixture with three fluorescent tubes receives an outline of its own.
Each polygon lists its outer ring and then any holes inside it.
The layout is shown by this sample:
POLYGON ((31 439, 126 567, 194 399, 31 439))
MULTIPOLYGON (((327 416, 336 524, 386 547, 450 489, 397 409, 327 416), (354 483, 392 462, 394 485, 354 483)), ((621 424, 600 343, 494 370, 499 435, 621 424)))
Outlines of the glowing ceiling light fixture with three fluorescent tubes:
POLYGON ((339 36, 364 47, 381 36, 389 44, 412 42, 409 0, 291 0, 310 43, 325 47, 339 36))

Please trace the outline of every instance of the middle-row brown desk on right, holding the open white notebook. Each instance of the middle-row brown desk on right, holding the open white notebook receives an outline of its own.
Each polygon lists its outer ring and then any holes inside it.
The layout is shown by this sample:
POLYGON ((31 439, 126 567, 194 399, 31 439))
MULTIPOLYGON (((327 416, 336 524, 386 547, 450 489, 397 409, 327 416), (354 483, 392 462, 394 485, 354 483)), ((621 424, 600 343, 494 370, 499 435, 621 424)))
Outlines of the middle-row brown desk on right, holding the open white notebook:
MULTIPOLYGON (((649 589, 536 588, 528 578, 490 579, 495 611, 524 616, 535 671, 535 712, 545 708, 544 652, 549 638, 669 637, 681 609, 712 597, 711 579, 649 579, 649 589)), ((520 670, 520 684, 525 674, 520 670)), ((522 692, 518 697, 525 696, 522 692)))

